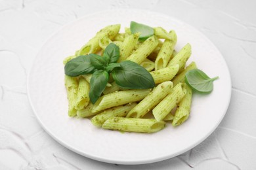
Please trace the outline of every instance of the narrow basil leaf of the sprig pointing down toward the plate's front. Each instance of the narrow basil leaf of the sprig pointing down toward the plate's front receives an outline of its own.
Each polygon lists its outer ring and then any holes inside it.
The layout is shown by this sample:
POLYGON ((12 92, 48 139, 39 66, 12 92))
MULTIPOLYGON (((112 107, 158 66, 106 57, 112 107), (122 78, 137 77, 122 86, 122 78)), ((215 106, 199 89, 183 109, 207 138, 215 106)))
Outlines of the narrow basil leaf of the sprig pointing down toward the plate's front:
POLYGON ((89 97, 91 103, 95 104, 98 98, 100 97, 101 93, 106 88, 106 84, 108 82, 108 72, 103 70, 98 70, 93 73, 93 76, 90 80, 90 91, 89 97))

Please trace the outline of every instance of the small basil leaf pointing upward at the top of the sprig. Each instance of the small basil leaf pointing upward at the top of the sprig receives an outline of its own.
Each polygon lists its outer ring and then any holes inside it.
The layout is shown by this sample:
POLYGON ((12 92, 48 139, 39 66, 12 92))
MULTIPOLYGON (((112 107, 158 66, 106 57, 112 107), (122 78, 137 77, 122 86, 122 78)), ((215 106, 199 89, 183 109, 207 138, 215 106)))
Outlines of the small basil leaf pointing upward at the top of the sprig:
POLYGON ((108 44, 104 50, 103 58, 105 58, 108 63, 116 63, 119 58, 119 46, 114 43, 108 44))

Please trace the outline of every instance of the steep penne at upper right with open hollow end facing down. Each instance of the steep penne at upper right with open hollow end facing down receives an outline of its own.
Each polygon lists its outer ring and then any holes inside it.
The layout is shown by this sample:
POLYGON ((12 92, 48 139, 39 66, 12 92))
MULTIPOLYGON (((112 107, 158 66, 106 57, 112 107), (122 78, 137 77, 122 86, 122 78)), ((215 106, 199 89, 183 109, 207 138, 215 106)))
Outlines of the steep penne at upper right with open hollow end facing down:
POLYGON ((169 32, 169 35, 173 37, 173 39, 165 39, 163 42, 163 46, 161 46, 161 50, 156 57, 155 70, 165 68, 171 59, 171 54, 173 53, 175 44, 177 42, 177 35, 173 30, 169 32))

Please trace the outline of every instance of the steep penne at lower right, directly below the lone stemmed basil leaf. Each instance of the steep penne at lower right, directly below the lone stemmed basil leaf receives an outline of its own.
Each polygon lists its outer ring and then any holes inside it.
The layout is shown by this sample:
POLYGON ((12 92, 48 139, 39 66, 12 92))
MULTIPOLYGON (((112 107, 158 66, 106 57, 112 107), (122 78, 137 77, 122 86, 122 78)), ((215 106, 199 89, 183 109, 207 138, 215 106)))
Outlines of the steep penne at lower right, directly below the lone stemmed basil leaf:
POLYGON ((186 95, 177 105, 177 109, 175 111, 175 115, 172 122, 173 126, 178 126, 188 119, 188 116, 190 114, 191 101, 192 89, 189 86, 186 86, 186 95))

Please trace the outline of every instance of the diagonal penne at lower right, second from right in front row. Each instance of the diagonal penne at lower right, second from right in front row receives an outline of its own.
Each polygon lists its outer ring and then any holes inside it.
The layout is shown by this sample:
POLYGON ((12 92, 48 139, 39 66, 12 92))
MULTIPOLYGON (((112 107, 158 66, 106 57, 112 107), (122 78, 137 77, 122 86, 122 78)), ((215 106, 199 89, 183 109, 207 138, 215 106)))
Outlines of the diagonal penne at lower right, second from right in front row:
POLYGON ((181 101, 186 93, 186 84, 181 82, 177 84, 171 93, 169 93, 153 110, 153 115, 156 120, 160 121, 171 112, 171 110, 181 101))

